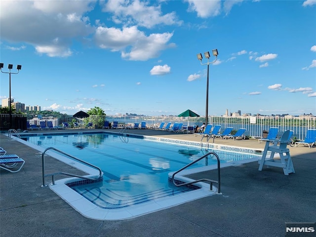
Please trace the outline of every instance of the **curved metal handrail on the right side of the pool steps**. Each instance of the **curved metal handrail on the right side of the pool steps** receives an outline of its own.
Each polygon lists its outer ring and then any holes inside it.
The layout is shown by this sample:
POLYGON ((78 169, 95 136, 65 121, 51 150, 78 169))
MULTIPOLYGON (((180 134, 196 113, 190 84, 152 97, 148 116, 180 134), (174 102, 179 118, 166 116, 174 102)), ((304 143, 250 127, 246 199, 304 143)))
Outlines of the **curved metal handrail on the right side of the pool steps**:
POLYGON ((186 166, 184 166, 183 168, 179 169, 178 171, 174 172, 173 175, 172 175, 172 183, 177 186, 177 187, 180 187, 180 186, 184 186, 184 185, 189 185, 189 184, 194 184, 194 183, 197 183, 197 182, 200 182, 200 181, 208 181, 210 182, 210 190, 213 190, 213 183, 218 183, 218 190, 217 190, 217 194, 221 194, 221 171, 220 171, 220 161, 219 161, 219 157, 216 153, 214 152, 210 152, 210 153, 207 153, 206 155, 198 158, 197 160, 191 162, 190 164, 187 164, 186 166), (209 155, 214 155, 216 158, 217 158, 217 175, 218 175, 218 181, 216 180, 212 180, 212 179, 198 179, 198 180, 195 180, 195 181, 192 181, 192 182, 188 182, 188 183, 183 183, 183 184, 176 184, 175 181, 174 181, 174 176, 181 172, 182 170, 188 168, 189 166, 193 165, 194 163, 196 163, 197 161, 203 159, 203 158, 207 158, 209 155))

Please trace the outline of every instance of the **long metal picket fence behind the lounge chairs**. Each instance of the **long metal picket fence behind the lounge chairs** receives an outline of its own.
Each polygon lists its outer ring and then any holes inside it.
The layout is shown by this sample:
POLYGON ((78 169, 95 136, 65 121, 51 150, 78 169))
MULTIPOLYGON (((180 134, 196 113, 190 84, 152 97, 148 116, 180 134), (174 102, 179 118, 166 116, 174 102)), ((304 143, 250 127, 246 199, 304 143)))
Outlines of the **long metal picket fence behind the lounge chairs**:
MULTIPOLYGON (((0 129, 8 130, 9 115, 0 115, 0 129)), ((195 126, 201 125, 205 121, 205 117, 173 117, 173 116, 97 116, 91 115, 88 118, 74 118, 70 115, 12 115, 12 124, 14 129, 26 129, 26 121, 29 124, 39 125, 40 121, 52 121, 54 126, 62 126, 63 122, 68 122, 73 125, 73 122, 79 122, 80 124, 88 124, 92 122, 93 126, 101 127, 104 121, 109 122, 118 121, 118 125, 134 124, 136 122, 146 122, 148 128, 155 128, 160 125, 161 122, 182 122, 184 125, 195 126)), ((304 140, 306 137, 306 131, 308 129, 316 128, 316 117, 217 117, 209 116, 208 121, 213 125, 221 125, 223 131, 226 127, 233 127, 234 130, 239 128, 246 128, 245 135, 253 137, 262 137, 263 131, 268 131, 270 127, 278 127, 279 133, 285 130, 293 130, 294 137, 298 140, 304 140)), ((12 127, 11 127, 12 128, 12 127)))

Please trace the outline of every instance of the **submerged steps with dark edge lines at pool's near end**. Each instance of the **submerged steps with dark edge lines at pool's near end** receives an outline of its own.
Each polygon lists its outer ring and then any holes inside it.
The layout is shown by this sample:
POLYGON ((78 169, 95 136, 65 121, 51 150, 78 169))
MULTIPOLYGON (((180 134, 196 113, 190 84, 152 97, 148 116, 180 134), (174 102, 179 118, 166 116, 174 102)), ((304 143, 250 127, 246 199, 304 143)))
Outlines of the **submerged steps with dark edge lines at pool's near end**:
MULTIPOLYGON (((103 186, 104 187, 104 186, 103 186)), ((170 197, 177 194, 192 191, 186 188, 157 189, 144 194, 126 194, 124 191, 112 191, 107 188, 101 188, 96 185, 92 188, 73 187, 81 196, 85 197, 95 205, 101 208, 115 209, 135 204, 144 203, 161 197, 170 197)))

